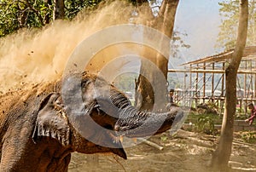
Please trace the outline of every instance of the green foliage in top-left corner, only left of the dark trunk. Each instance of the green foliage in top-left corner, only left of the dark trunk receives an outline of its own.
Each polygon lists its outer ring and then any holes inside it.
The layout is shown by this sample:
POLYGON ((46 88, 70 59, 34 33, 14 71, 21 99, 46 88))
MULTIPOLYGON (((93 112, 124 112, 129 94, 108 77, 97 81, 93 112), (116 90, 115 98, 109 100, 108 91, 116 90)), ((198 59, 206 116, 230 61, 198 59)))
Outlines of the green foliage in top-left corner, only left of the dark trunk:
POLYGON ((0 1, 0 37, 15 32, 22 27, 44 26, 46 16, 51 14, 52 6, 42 0, 0 1))

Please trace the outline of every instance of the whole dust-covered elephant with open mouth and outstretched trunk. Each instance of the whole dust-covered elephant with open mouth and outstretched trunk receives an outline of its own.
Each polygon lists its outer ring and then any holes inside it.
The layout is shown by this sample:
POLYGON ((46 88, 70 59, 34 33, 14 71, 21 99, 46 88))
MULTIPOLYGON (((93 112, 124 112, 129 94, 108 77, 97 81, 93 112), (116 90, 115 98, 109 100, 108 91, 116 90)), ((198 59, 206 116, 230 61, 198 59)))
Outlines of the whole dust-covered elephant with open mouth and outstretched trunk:
POLYGON ((72 152, 126 159, 119 135, 160 134, 177 115, 183 115, 178 108, 139 112, 122 92, 90 72, 9 91, 0 96, 0 171, 67 171, 72 152), (81 103, 73 99, 77 94, 81 103), (154 125, 159 128, 151 129, 154 125))

